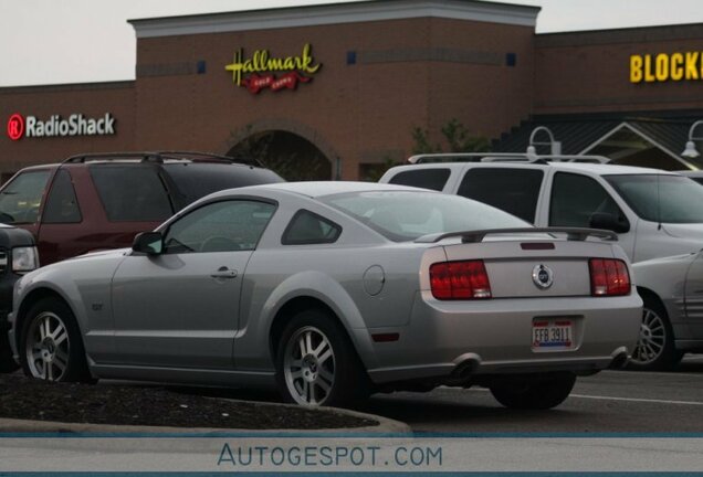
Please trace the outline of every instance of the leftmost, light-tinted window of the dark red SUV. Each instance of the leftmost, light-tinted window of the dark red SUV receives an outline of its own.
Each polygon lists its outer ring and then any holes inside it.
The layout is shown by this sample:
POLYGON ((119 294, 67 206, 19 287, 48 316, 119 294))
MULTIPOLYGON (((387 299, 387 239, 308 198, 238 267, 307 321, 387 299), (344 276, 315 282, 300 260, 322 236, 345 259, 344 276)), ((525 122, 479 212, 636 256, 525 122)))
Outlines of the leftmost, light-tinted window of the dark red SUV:
POLYGON ((22 172, 0 192, 0 222, 34 223, 50 171, 22 172))

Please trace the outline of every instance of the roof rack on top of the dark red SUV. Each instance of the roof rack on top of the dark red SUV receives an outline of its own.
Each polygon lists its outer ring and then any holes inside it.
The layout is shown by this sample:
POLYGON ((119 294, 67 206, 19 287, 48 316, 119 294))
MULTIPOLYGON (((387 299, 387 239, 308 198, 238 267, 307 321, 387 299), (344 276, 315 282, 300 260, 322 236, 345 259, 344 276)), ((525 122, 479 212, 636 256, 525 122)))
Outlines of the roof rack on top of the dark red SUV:
POLYGON ((176 150, 157 150, 157 151, 143 151, 143 152, 91 152, 85 155, 72 156, 63 161, 63 163, 83 163, 88 161, 102 161, 102 160, 120 160, 120 159, 135 159, 141 162, 158 162, 162 163, 164 160, 191 160, 191 161, 225 161, 231 163, 242 163, 246 166, 264 167, 256 158, 237 155, 223 156, 213 152, 202 151, 176 151, 176 150))

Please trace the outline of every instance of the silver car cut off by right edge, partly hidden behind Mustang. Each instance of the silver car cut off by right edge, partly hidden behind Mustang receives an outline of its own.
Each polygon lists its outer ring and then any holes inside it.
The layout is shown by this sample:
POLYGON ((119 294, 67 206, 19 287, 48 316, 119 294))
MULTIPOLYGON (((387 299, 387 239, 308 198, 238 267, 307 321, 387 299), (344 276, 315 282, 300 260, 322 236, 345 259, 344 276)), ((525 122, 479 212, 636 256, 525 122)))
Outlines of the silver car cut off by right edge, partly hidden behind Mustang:
POLYGON ((644 308, 630 368, 670 370, 686 352, 703 351, 703 253, 632 266, 644 308))

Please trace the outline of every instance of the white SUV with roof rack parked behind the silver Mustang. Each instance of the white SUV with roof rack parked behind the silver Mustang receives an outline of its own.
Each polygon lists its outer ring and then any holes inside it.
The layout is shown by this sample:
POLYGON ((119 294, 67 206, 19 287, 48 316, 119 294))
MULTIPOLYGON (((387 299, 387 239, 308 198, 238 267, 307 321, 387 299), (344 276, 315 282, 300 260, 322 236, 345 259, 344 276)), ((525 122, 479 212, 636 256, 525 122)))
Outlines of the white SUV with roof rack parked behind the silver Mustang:
POLYGON ((493 156, 413 157, 416 163, 389 169, 380 182, 464 195, 537 226, 611 230, 632 262, 703 248, 703 187, 679 173, 597 157, 493 156))

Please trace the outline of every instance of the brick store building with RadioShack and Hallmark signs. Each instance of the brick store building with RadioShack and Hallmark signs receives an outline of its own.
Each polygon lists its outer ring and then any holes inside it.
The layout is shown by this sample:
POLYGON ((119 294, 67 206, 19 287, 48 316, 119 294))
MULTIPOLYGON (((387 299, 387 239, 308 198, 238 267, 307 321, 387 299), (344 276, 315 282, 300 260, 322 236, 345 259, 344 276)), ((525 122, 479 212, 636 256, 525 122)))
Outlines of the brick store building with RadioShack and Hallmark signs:
POLYGON ((538 12, 384 0, 133 20, 135 81, 0 88, 0 173, 185 149, 354 180, 452 119, 494 150, 547 126, 565 153, 697 168, 681 151, 703 118, 703 24, 535 34, 538 12))

